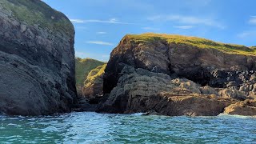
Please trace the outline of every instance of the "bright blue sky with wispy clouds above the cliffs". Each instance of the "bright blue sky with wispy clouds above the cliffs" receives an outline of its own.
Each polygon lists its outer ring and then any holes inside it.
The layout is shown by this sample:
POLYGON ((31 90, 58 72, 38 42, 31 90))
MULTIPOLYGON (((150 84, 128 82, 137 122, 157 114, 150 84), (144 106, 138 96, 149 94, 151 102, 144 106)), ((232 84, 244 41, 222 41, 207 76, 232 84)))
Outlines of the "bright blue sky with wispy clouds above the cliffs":
POLYGON ((107 61, 126 34, 182 34, 256 46, 254 0, 43 0, 70 18, 80 58, 107 61))

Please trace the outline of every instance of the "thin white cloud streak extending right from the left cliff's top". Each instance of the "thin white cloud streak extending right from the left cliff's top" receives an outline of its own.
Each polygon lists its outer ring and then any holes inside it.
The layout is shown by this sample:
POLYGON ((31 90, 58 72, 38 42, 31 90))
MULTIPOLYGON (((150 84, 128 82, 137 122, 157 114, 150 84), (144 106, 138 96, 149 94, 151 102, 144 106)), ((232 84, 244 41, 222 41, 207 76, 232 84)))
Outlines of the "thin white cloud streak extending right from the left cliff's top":
POLYGON ((70 19, 73 23, 89 23, 89 22, 98 22, 98 23, 111 23, 111 24, 122 24, 122 25, 137 25, 132 22, 119 22, 116 18, 110 18, 108 20, 100 20, 100 19, 70 19))

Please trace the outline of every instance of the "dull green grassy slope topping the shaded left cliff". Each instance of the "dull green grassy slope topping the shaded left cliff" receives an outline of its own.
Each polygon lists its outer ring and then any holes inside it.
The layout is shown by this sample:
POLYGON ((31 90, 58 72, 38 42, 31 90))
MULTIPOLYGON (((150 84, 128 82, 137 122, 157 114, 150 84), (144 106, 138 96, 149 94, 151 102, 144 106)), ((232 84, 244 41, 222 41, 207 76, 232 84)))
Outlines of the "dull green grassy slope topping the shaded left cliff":
POLYGON ((70 20, 41 0, 1 0, 0 5, 20 22, 30 26, 38 25, 53 32, 64 32, 69 36, 74 35, 74 26, 70 20))

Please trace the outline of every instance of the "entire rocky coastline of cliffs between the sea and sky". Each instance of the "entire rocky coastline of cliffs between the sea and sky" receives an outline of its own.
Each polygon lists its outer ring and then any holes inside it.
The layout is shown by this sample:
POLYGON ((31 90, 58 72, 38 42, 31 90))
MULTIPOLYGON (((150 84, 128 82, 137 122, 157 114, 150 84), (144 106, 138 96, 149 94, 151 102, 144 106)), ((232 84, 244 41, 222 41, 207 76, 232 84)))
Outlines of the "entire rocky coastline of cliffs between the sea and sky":
POLYGON ((75 75, 74 26, 64 14, 39 0, 0 4, 0 113, 256 115, 255 47, 128 34, 107 64, 77 59, 75 75))

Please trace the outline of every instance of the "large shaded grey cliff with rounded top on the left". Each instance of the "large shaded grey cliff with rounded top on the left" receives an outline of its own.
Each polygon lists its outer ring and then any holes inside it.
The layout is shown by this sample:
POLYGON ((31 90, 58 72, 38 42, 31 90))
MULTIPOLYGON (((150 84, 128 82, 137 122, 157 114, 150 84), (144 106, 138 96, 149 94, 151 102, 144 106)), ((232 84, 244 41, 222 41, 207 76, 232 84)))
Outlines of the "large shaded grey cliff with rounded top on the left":
POLYGON ((77 101, 69 19, 40 0, 2 0, 0 27, 0 111, 69 112, 77 101))

